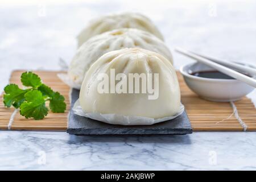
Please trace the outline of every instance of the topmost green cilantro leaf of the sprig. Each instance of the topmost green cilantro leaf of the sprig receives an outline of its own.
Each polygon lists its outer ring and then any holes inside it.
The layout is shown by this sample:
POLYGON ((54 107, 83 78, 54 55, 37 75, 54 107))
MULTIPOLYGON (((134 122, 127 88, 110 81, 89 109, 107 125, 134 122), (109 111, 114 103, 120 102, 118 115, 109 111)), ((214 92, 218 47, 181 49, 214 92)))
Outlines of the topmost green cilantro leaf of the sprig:
POLYGON ((32 86, 32 88, 37 88, 42 85, 42 81, 39 76, 32 72, 22 73, 21 81, 24 86, 32 86))

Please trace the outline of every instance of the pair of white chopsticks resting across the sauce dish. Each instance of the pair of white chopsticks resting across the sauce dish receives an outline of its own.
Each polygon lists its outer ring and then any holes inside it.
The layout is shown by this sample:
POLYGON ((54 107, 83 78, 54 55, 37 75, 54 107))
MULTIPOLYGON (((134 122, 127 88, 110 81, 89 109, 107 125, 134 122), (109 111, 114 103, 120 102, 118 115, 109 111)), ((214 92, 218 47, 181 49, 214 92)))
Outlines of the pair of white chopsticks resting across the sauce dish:
POLYGON ((254 69, 254 68, 246 67, 245 65, 240 65, 240 64, 229 62, 229 61, 219 60, 219 59, 205 56, 205 55, 200 55, 198 53, 187 51, 182 48, 175 48, 175 51, 177 51, 185 56, 191 57, 192 59, 195 59, 195 60, 199 61, 200 63, 204 63, 204 64, 208 65, 209 67, 217 69, 217 71, 225 73, 226 75, 236 78, 237 80, 246 82, 247 84, 256 88, 256 80, 254 78, 243 75, 242 73, 234 71, 233 69, 228 68, 228 67, 232 67, 234 69, 237 69, 238 71, 247 72, 251 76, 256 75, 256 69, 254 69), (226 67, 226 66, 228 66, 228 67, 226 67))

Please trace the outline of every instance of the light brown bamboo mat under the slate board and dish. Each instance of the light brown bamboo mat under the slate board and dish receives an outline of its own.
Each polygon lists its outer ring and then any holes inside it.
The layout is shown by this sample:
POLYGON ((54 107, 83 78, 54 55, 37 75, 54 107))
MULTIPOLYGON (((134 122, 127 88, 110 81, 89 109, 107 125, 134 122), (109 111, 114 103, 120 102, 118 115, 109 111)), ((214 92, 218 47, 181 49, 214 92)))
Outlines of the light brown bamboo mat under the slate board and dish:
MULTIPOLYGON (((14 71, 10 82, 20 86, 20 75, 24 71, 14 71)), ((11 130, 57 130, 67 129, 69 105, 69 87, 58 77, 57 73, 51 71, 35 71, 43 82, 65 97, 67 110, 65 113, 51 113, 43 120, 35 121, 26 119, 19 112, 14 115, 11 130)), ((181 101, 185 105, 188 117, 191 121, 193 131, 243 131, 241 123, 233 113, 233 107, 229 102, 210 102, 199 98, 185 84, 179 72, 177 76, 180 82, 181 101)), ((244 97, 240 101, 233 102, 237 107, 241 121, 247 126, 246 131, 256 131, 256 109, 249 98, 244 97)), ((14 113, 13 108, 5 108, 0 97, 0 129, 7 130, 10 117, 14 113)))

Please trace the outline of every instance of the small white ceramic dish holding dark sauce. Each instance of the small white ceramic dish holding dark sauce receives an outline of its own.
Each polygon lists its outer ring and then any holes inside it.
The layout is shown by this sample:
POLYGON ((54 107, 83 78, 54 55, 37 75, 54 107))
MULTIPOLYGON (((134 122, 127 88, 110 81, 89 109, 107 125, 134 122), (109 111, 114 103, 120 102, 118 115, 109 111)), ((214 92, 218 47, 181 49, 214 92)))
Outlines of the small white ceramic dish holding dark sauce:
MULTIPOLYGON (((252 65, 249 66, 255 68, 252 65)), ((238 80, 203 78, 191 75, 191 73, 199 71, 214 71, 214 69, 202 63, 187 64, 180 68, 188 87, 205 100, 217 102, 236 101, 254 90, 253 86, 238 80)))

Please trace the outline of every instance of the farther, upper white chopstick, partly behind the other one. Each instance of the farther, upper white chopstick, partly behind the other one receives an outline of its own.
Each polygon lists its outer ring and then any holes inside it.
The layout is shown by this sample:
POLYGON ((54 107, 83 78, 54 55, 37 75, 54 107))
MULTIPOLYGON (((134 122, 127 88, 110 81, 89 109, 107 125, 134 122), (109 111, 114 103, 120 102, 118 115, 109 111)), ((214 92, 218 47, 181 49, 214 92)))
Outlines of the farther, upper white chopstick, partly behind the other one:
POLYGON ((241 72, 249 73, 251 76, 256 75, 256 69, 255 68, 247 67, 246 65, 241 65, 241 64, 237 64, 237 63, 226 61, 226 60, 217 59, 216 57, 212 57, 212 56, 202 55, 201 53, 196 53, 196 52, 192 52, 192 51, 189 51, 189 52, 194 53, 197 56, 201 56, 205 59, 214 61, 218 64, 225 65, 227 67, 232 67, 232 68, 237 69, 238 71, 241 71, 241 72))

